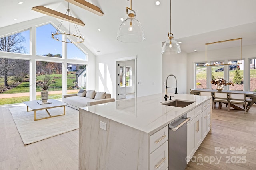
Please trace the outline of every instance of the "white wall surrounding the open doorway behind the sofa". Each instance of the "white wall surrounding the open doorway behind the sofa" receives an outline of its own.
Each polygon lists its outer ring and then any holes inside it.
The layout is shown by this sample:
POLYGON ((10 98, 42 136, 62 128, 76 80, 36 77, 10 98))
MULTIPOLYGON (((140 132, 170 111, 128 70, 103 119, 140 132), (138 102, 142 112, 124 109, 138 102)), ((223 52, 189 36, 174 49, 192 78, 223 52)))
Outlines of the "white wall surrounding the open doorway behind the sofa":
POLYGON ((137 97, 161 92, 162 54, 161 43, 144 46, 134 44, 129 51, 122 51, 96 57, 96 90, 110 92, 116 96, 116 61, 120 58, 137 56, 137 97), (104 70, 104 77, 102 71, 104 70), (100 81, 99 81, 100 80, 100 81), (104 89, 101 89, 104 88, 104 89))

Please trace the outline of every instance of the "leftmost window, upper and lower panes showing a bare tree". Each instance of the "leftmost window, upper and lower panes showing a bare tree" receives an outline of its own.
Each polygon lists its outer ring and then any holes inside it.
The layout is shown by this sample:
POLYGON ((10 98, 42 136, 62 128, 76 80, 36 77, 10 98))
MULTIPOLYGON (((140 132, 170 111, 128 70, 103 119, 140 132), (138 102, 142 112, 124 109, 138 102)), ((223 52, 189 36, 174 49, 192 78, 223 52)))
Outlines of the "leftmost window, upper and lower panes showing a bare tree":
POLYGON ((0 38, 0 51, 20 54, 0 57, 0 105, 29 100, 29 60, 22 58, 30 54, 30 29, 0 38))

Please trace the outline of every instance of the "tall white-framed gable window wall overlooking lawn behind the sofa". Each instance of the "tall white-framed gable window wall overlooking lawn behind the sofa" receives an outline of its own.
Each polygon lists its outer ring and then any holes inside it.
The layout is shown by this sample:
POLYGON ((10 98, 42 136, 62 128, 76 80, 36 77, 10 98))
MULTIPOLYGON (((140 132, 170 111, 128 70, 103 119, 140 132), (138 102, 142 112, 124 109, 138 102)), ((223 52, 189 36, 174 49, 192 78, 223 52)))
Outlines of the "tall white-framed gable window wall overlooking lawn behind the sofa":
MULTIPOLYGON (((19 28, 14 25, 10 27, 12 27, 10 30, 18 30, 19 28)), ((0 75, 0 95, 4 96, 4 94, 10 92, 17 92, 22 97, 22 99, 19 99, 18 95, 16 95, 16 99, 19 100, 6 100, 7 102, 4 104, 40 99, 40 95, 38 96, 38 93, 40 93, 40 84, 38 81, 40 81, 42 74, 46 72, 53 78, 53 83, 48 89, 49 98, 62 98, 63 88, 76 89, 76 86, 72 86, 75 84, 73 80, 72 83, 66 82, 68 80, 67 72, 64 72, 64 68, 62 68, 63 66, 66 68, 66 65, 68 67, 69 64, 77 64, 77 71, 81 70, 80 67, 82 67, 84 72, 81 73, 82 76, 80 76, 79 80, 81 77, 83 79, 80 80, 77 86, 78 88, 85 88, 85 66, 88 64, 88 54, 82 49, 81 46, 83 45, 74 45, 71 43, 67 45, 66 43, 52 39, 50 33, 54 30, 55 27, 50 23, 46 25, 30 23, 24 31, 17 31, 10 33, 10 35, 5 34, 4 36, 1 36, 0 33, 0 72, 7 70, 7 65, 4 66, 4 64, 8 63, 10 65, 7 71, 8 77, 5 78, 4 73, 0 75), (10 39, 15 40, 16 43, 6 44, 6 40, 10 41, 10 39), (6 49, 9 49, 9 51, 6 49), (10 55, 10 53, 14 53, 14 55, 10 55), (65 77, 65 80, 62 81, 62 77, 65 77), (5 80, 6 82, 4 82, 5 80), (65 86, 63 86, 63 82, 65 86), (9 84, 12 86, 12 90, 6 86, 9 86, 9 84)), ((76 79, 74 82, 78 82, 78 76, 76 74, 74 74, 74 79, 76 79)))

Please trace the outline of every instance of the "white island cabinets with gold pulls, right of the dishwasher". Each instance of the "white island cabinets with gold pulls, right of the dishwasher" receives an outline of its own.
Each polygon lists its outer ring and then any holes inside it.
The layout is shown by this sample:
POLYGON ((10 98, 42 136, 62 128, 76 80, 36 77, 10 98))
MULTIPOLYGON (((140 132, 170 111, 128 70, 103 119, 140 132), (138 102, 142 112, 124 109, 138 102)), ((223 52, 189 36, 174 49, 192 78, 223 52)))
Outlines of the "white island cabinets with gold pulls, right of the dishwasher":
POLYGON ((188 125, 188 142, 187 142, 187 163, 190 161, 207 133, 211 129, 211 100, 207 100, 201 106, 188 112, 191 120, 188 125), (200 112, 201 111, 201 112, 200 112))

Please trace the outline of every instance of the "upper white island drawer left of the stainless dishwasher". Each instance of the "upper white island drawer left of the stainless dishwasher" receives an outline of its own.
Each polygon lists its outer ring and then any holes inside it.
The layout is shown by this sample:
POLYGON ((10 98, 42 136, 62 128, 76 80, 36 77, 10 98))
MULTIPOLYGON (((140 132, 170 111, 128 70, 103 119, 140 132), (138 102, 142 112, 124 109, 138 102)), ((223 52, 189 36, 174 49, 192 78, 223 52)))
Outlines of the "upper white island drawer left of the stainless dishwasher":
POLYGON ((168 140, 168 126, 157 131, 156 133, 154 133, 149 137, 150 153, 153 152, 158 147, 160 147, 167 140, 168 140))

